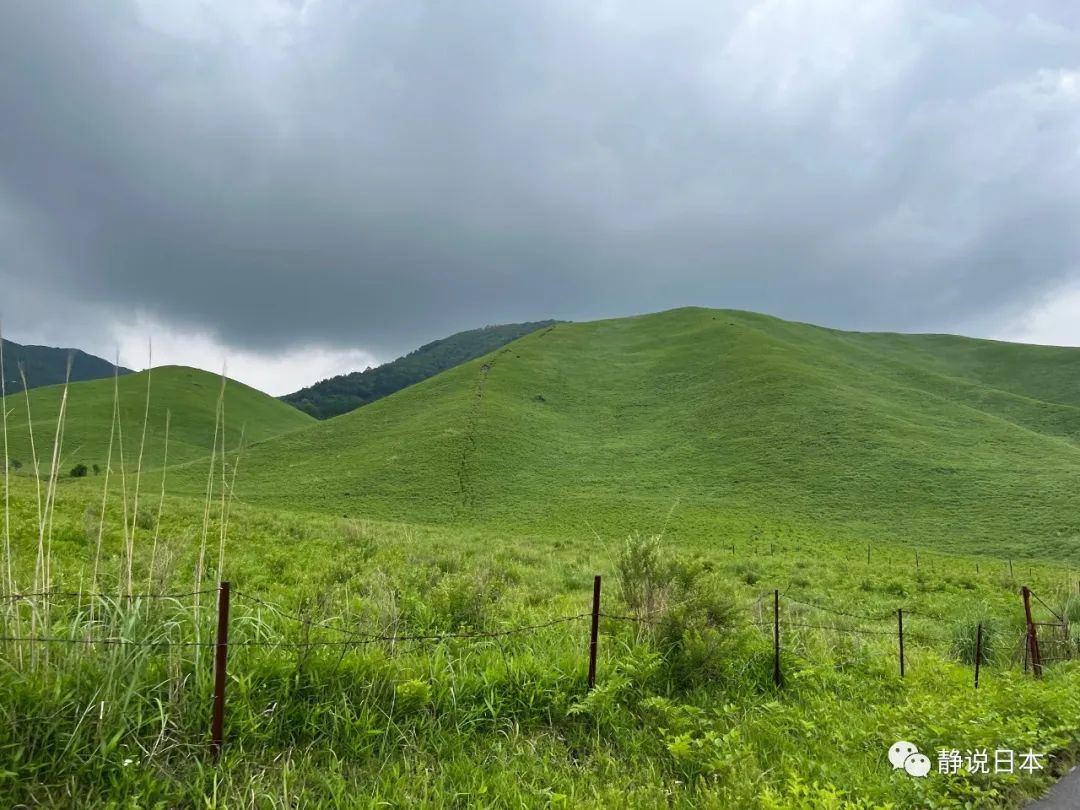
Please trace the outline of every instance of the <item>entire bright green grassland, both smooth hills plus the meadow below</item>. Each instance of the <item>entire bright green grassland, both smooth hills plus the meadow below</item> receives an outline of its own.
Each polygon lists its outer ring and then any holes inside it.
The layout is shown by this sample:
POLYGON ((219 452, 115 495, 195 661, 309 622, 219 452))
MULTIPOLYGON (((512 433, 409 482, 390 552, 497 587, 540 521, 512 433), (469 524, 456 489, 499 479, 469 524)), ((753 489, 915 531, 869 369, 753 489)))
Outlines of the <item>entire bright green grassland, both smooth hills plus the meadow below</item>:
POLYGON ((55 477, 36 389, 0 572, 53 595, 0 603, 0 805, 1020 807, 1080 751, 1078 356, 680 310, 321 423, 230 382, 224 427, 218 378, 154 369, 141 465, 145 374, 70 387, 55 477), (902 739, 1051 756, 919 780, 902 739))

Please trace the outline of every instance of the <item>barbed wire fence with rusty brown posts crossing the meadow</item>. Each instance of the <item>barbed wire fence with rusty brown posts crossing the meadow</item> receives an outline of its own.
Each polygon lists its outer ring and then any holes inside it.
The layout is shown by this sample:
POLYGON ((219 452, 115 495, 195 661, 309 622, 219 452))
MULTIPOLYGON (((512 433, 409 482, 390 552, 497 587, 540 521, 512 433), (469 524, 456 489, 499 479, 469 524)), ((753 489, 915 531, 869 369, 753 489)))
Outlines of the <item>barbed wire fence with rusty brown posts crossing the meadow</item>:
MULTIPOLYGON (((787 589, 789 590, 789 589, 787 589)), ((962 650, 970 638, 963 633, 956 632, 958 617, 947 617, 934 613, 922 608, 910 609, 897 607, 895 610, 868 612, 851 609, 847 606, 826 605, 816 599, 809 599, 800 596, 787 595, 787 590, 782 594, 774 590, 772 598, 765 596, 747 606, 750 618, 728 620, 726 626, 734 629, 753 629, 760 633, 762 637, 771 636, 773 648, 773 679, 775 686, 782 687, 784 681, 785 660, 797 660, 806 662, 812 666, 821 665, 811 658, 811 650, 807 645, 808 639, 814 635, 836 634, 839 636, 851 636, 882 642, 886 639, 895 640, 894 648, 883 648, 877 644, 872 647, 863 647, 854 651, 845 651, 847 657, 837 657, 837 650, 831 648, 833 653, 828 664, 833 667, 842 669, 849 665, 863 663, 867 660, 893 659, 897 664, 897 672, 901 678, 905 676, 908 663, 907 653, 909 645, 941 646, 948 645, 953 652, 959 652, 962 660, 973 664, 974 687, 978 688, 981 669, 988 663, 986 647, 984 646, 984 627, 977 625, 974 649, 962 650), (771 602, 771 606, 767 605, 771 602), (771 607, 771 611, 769 610, 771 607), (771 612, 771 616, 769 613, 771 612), (915 619, 917 622, 930 625, 930 629, 919 627, 913 631, 905 629, 904 620, 915 619), (894 626, 881 626, 886 622, 895 622, 894 626), (876 626, 865 626, 873 624, 876 626), (942 626, 948 625, 953 633, 942 632, 942 626), (807 634, 806 631, 812 631, 807 634)), ((121 603, 137 604, 143 603, 177 603, 183 604, 188 599, 198 599, 206 595, 217 595, 217 632, 214 640, 210 640, 208 627, 203 629, 198 625, 198 620, 192 621, 191 630, 193 638, 132 638, 123 633, 111 633, 106 635, 94 635, 95 627, 100 631, 105 622, 85 622, 72 627, 72 635, 59 636, 46 633, 31 634, 5 634, 0 635, 0 645, 69 645, 87 649, 100 646, 104 648, 146 648, 149 650, 161 650, 170 648, 179 649, 205 649, 215 651, 215 689, 214 689, 214 711, 212 730, 212 751, 216 754, 224 744, 222 718, 225 713, 225 689, 226 689, 226 665, 229 649, 267 649, 267 650, 313 650, 313 649, 338 649, 345 656, 350 649, 361 648, 367 645, 384 644, 395 648, 396 645, 440 645, 449 642, 473 643, 490 639, 502 639, 512 636, 525 636, 532 633, 549 630, 559 625, 569 625, 575 622, 591 620, 588 662, 589 662, 589 689, 595 687, 597 650, 599 646, 600 622, 618 622, 636 625, 639 631, 645 629, 656 629, 669 621, 670 615, 650 615, 648 611, 635 613, 605 612, 600 609, 600 578, 594 580, 593 605, 589 612, 572 613, 548 619, 542 622, 522 624, 513 627, 502 627, 496 630, 473 630, 462 629, 456 632, 387 632, 379 629, 357 629, 347 626, 337 622, 323 619, 315 619, 303 616, 299 612, 288 610, 281 605, 262 599, 254 594, 232 590, 228 582, 222 582, 214 590, 199 590, 179 593, 131 593, 131 594, 103 594, 75 591, 46 591, 40 593, 9 594, 0 598, 0 604, 8 604, 5 621, 10 624, 10 613, 18 605, 29 604, 60 604, 77 600, 78 605, 92 605, 95 600, 106 604, 119 605, 121 603), (305 634, 315 632, 328 632, 336 634, 334 638, 311 638, 305 637, 302 640, 292 640, 286 636, 278 638, 229 638, 230 633, 230 606, 232 598, 244 604, 248 609, 256 611, 270 611, 288 622, 294 623, 302 630, 305 634), (204 638, 202 630, 207 631, 204 638)), ((1041 597, 1034 594, 1026 586, 1022 590, 1024 607, 1024 631, 1015 645, 1009 646, 1009 661, 1018 663, 1023 657, 1025 672, 1031 672, 1035 676, 1042 675, 1043 665, 1055 664, 1064 661, 1075 660, 1080 654, 1080 645, 1072 635, 1069 622, 1066 617, 1048 605, 1041 597), (1057 621, 1036 621, 1032 611, 1032 599, 1041 609, 1050 613, 1057 621)), ((193 604, 194 605, 194 604, 193 604)), ((211 608, 204 608, 205 615, 211 615, 211 608)), ((195 613, 198 617, 198 613, 195 613)), ((244 627, 243 619, 237 630, 244 627)), ((21 621, 16 622, 21 626, 21 621)), ((32 629, 32 622, 31 622, 32 629)), ((183 630, 178 623, 172 623, 167 627, 172 631, 183 630)), ((1000 647, 1000 640, 998 642, 1000 647)))

